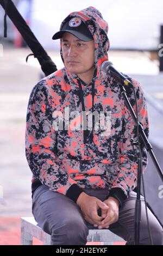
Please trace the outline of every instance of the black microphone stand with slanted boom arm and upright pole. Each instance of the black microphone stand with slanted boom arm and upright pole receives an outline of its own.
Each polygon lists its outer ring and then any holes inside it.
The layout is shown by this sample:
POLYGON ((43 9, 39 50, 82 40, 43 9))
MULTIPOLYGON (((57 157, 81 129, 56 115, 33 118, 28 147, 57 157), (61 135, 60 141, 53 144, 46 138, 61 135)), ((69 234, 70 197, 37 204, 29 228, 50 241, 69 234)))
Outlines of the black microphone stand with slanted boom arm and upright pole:
MULTIPOLYGON (((112 76, 114 76, 117 80, 117 82, 120 84, 121 88, 121 95, 123 96, 124 103, 129 109, 135 124, 138 123, 139 127, 139 134, 141 138, 142 148, 145 147, 146 150, 149 152, 153 163, 155 164, 156 169, 158 170, 158 173, 160 175, 160 178, 163 182, 163 174, 162 170, 159 166, 158 161, 156 160, 156 157, 152 150, 152 145, 149 143, 148 138, 146 136, 145 131, 143 130, 142 125, 140 124, 139 120, 137 120, 136 114, 133 110, 133 107, 130 105, 130 102, 128 100, 128 97, 126 95, 126 89, 124 86, 133 86, 133 84, 127 79, 126 76, 121 74, 116 74, 114 71, 110 70, 110 73, 112 76)), ((136 99, 135 99, 136 100, 136 99)), ((134 142, 133 139, 130 140, 131 145, 139 145, 138 142, 134 142)), ((142 168, 141 168, 141 159, 140 159, 140 151, 137 153, 137 160, 138 160, 138 168, 137 168, 137 197, 136 197, 136 203, 135 203, 135 234, 134 234, 134 245, 139 245, 139 237, 140 237, 140 222, 141 222, 141 200, 140 200, 140 192, 141 192, 141 175, 142 175, 142 168)))

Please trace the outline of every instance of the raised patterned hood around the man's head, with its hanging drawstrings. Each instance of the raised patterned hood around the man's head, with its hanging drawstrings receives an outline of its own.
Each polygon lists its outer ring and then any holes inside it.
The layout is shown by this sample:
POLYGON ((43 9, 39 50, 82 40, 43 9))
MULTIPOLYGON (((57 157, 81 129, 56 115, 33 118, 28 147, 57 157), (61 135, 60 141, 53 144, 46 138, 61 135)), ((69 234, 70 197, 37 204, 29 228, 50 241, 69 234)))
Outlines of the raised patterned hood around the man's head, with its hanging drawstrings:
MULTIPOLYGON (((94 96, 95 96, 95 83, 96 81, 103 81, 104 80, 104 72, 101 70, 101 64, 108 60, 108 50, 110 46, 110 42, 108 39, 108 23, 103 19, 102 14, 94 7, 88 7, 81 11, 74 11, 73 13, 70 13, 64 21, 62 21, 60 26, 60 31, 63 30, 63 27, 65 26, 65 23, 67 21, 70 21, 73 17, 78 17, 82 22, 84 22, 85 26, 89 29, 93 40, 95 42, 95 72, 92 78, 91 83, 88 86, 92 87, 92 113, 94 111, 94 96)), ((57 33, 56 33, 57 34, 57 33)), ((56 35, 55 34, 55 35, 56 35)), ((53 36, 53 39, 55 36, 53 36)), ((57 39, 57 38, 56 38, 57 39)), ((62 61, 64 62, 63 54, 62 54, 62 46, 61 46, 61 40, 60 40, 60 54, 62 61)), ((82 83, 80 78, 73 73, 70 73, 66 69, 66 74, 68 77, 68 80, 70 80, 71 85, 73 86, 75 84, 78 84, 80 88, 80 100, 82 102, 82 110, 85 111, 84 106, 84 96, 83 96, 83 89, 82 89, 82 83)), ((87 86, 85 84, 85 86, 87 86)), ((92 132, 91 132, 91 141, 93 141, 93 129, 95 127, 95 117, 92 115, 92 132)), ((89 134, 89 131, 84 130, 84 143, 87 142, 87 136, 89 134)))

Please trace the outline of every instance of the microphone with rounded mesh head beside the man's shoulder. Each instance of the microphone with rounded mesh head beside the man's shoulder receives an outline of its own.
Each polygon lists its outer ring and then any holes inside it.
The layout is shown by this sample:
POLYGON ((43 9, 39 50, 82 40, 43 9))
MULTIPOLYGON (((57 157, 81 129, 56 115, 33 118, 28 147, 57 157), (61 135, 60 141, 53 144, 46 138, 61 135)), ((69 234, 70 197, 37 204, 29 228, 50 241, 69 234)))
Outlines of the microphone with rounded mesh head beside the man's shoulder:
POLYGON ((112 64, 112 62, 103 62, 101 69, 103 72, 105 72, 106 74, 109 74, 111 72, 112 76, 114 76, 116 78, 116 80, 118 82, 122 82, 128 86, 128 84, 131 84, 131 82, 127 79, 126 76, 124 76, 120 71, 116 70, 112 64))

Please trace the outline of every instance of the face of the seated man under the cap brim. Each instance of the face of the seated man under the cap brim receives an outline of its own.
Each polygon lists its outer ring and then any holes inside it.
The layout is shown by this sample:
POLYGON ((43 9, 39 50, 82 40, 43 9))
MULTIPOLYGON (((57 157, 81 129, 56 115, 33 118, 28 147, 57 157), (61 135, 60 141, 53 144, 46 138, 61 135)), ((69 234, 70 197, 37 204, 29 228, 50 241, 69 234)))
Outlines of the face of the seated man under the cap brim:
MULTIPOLYGON (((94 41, 82 41, 71 33, 62 36, 62 53, 68 71, 81 79, 92 76, 94 72, 94 41)), ((92 77, 91 77, 92 79, 92 77)))

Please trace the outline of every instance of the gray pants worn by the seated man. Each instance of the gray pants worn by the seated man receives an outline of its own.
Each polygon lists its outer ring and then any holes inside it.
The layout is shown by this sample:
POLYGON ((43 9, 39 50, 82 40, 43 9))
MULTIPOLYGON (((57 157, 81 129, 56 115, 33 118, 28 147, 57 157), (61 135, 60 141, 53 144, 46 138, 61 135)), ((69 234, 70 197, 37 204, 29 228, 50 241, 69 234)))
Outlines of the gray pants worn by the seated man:
MULTIPOLYGON (((105 200, 108 188, 101 190, 84 189, 90 196, 105 200)), ((119 211, 118 221, 111 224, 109 230, 121 236, 128 245, 134 243, 134 217, 136 193, 131 192, 123 202, 119 211)), ((145 214, 145 203, 141 197, 142 214, 140 226, 140 245, 149 245, 149 235, 145 214)), ((79 206, 64 194, 49 191, 41 185, 33 195, 32 212, 39 226, 51 235, 52 245, 85 245, 89 228, 95 228, 87 223, 79 206)), ((154 245, 162 245, 162 227, 152 212, 148 209, 154 245)), ((97 228, 95 228, 97 229, 97 228)))

